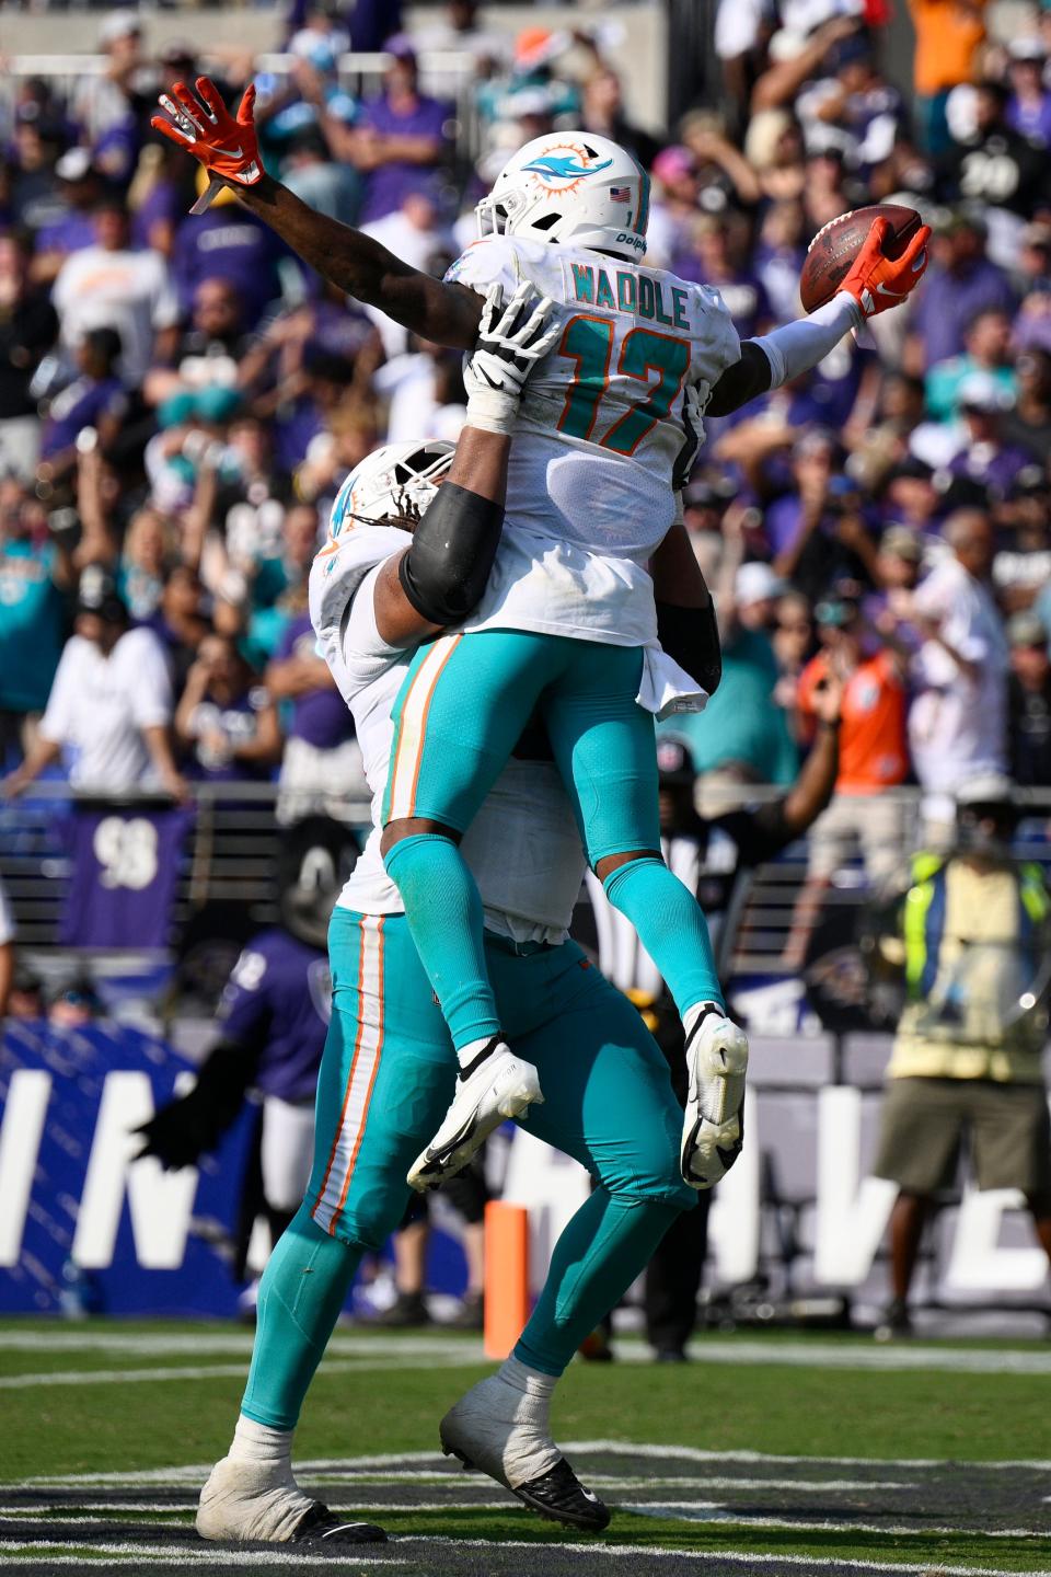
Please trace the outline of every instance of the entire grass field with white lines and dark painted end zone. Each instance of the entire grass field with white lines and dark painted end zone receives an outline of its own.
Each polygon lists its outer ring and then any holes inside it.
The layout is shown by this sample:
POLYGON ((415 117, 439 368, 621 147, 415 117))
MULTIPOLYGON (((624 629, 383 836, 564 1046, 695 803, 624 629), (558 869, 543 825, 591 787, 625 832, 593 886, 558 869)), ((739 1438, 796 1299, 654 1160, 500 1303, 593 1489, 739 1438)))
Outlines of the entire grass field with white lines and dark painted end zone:
POLYGON ((1051 1577, 1051 1348, 704 1337, 652 1366, 577 1364, 559 1443, 616 1506, 602 1539, 537 1522, 440 1456, 485 1372, 459 1334, 337 1333, 298 1435, 301 1482, 383 1523, 355 1558, 197 1541, 251 1337, 230 1326, 0 1322, 0 1571, 397 1577, 1051 1577))

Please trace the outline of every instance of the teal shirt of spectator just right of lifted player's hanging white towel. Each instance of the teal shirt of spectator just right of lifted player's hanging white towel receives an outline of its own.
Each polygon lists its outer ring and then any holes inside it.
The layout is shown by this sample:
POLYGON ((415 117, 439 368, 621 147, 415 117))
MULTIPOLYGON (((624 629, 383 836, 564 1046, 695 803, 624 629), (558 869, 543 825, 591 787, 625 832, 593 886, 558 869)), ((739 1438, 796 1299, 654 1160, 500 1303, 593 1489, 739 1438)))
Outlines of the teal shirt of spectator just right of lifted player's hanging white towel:
POLYGON ((698 773, 744 762, 766 784, 791 784, 799 754, 774 700, 777 659, 766 636, 739 629, 723 647, 723 680, 704 711, 660 724, 690 746, 698 773))

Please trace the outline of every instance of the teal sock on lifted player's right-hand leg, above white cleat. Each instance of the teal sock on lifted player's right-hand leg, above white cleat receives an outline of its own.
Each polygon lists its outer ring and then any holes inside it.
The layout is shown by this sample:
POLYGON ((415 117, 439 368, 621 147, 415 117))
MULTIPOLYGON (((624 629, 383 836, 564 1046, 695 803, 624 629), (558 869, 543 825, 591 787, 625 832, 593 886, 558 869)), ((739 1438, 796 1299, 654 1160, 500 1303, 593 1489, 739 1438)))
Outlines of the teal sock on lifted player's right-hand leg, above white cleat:
POLYGON ((630 859, 602 886, 638 932, 679 1016, 698 1001, 717 1001, 725 1011, 707 921, 690 889, 660 859, 630 859))

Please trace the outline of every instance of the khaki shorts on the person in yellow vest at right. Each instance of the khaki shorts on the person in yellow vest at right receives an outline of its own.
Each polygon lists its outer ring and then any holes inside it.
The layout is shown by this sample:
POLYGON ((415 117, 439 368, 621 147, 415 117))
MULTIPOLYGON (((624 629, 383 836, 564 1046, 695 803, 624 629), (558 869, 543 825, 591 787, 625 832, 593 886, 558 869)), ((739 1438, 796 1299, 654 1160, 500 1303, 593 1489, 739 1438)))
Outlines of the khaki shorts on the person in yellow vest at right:
POLYGON ((1043 1085, 991 1079, 892 1079, 873 1172, 908 1194, 952 1187, 969 1139, 979 1187, 1051 1199, 1051 1120, 1043 1085))

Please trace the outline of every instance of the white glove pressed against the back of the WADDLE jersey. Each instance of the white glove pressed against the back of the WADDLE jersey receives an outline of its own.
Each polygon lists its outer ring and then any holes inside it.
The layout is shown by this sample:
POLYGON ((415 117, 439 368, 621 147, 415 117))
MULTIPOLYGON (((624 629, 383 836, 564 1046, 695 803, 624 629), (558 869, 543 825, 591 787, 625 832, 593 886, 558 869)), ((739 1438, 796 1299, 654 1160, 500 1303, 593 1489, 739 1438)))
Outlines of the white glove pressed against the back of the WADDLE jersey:
POLYGON ((537 300, 525 279, 506 306, 503 285, 488 287, 477 344, 463 358, 470 427, 511 432, 525 382, 558 337, 558 323, 547 326, 550 312, 548 296, 537 300))

